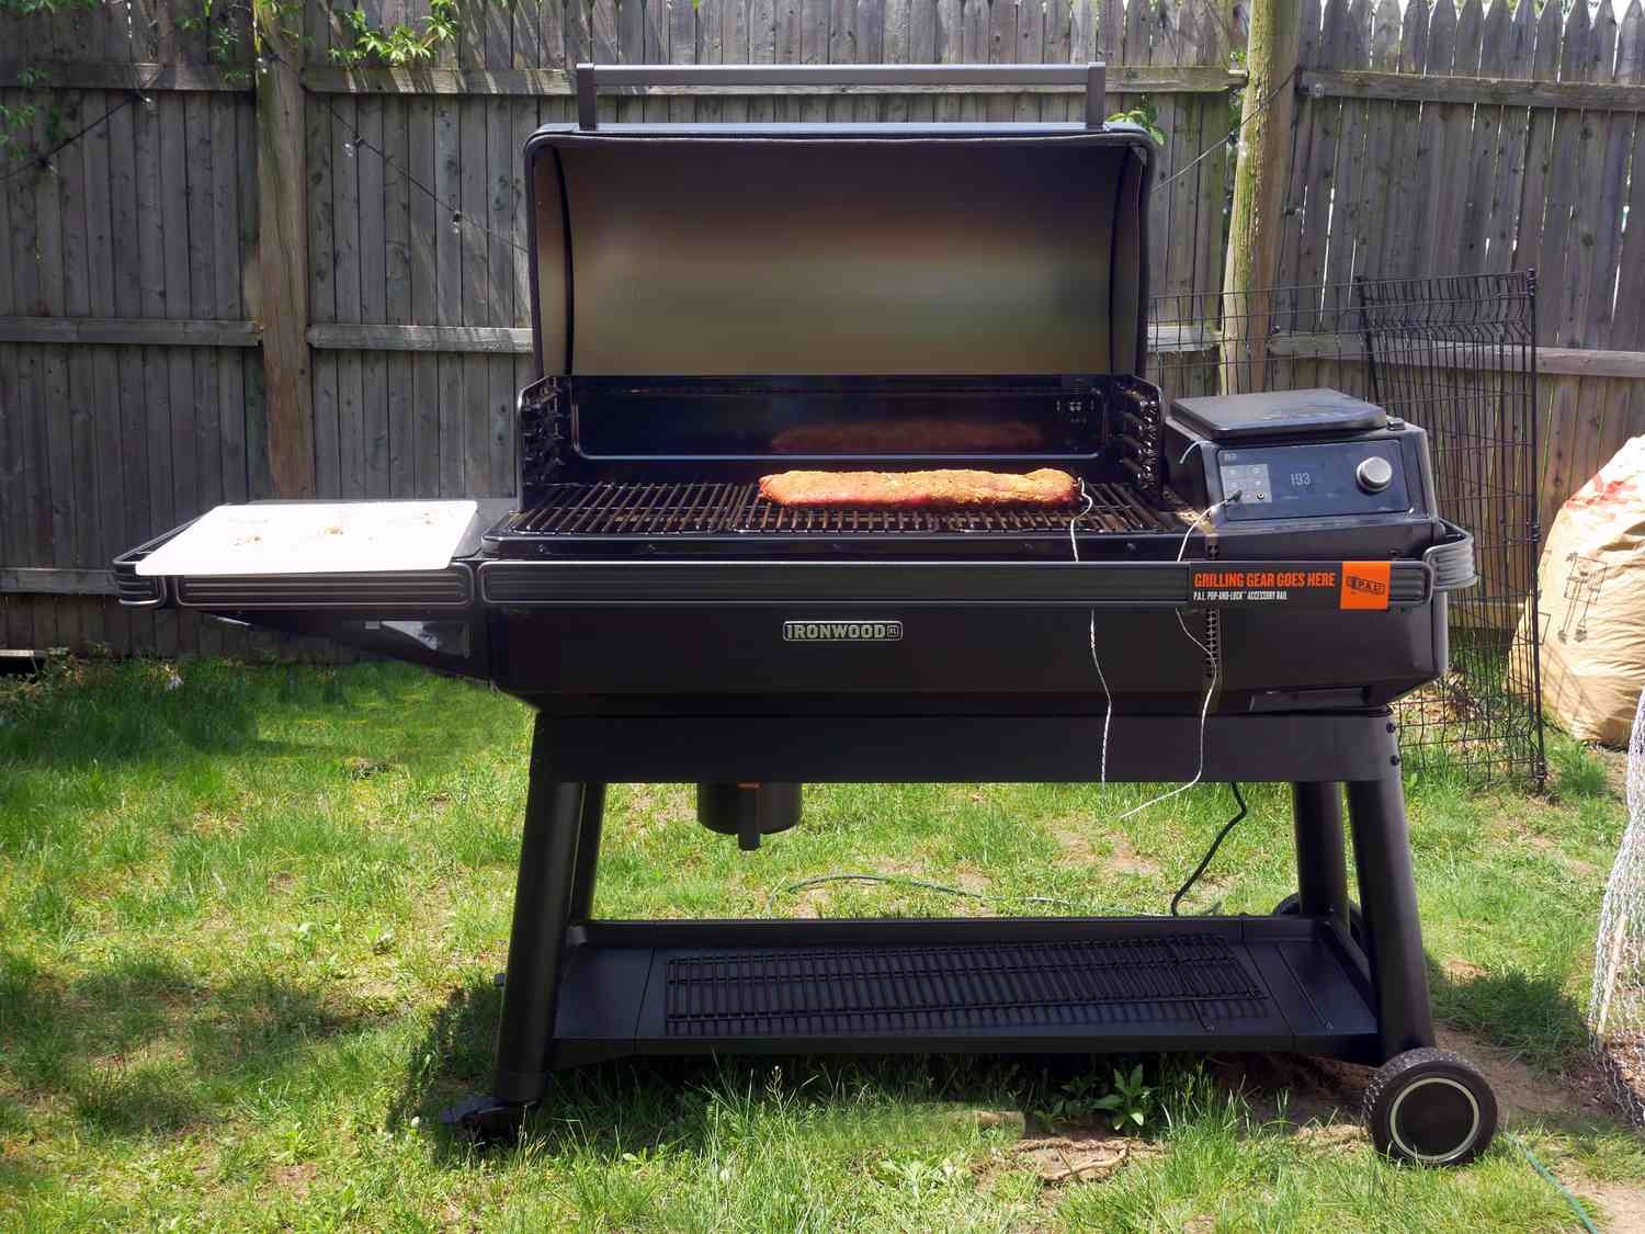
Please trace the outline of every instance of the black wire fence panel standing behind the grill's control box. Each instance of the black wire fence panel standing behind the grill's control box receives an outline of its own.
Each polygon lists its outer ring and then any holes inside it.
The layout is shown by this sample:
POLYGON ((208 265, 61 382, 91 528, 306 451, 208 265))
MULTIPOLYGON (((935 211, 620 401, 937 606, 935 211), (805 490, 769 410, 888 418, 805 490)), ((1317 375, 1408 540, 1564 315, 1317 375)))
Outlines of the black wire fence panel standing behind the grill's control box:
POLYGON ((1150 321, 1165 398, 1329 387, 1428 429, 1479 584, 1451 597, 1451 671, 1400 704, 1406 762, 1540 785, 1535 275, 1156 296, 1150 321))

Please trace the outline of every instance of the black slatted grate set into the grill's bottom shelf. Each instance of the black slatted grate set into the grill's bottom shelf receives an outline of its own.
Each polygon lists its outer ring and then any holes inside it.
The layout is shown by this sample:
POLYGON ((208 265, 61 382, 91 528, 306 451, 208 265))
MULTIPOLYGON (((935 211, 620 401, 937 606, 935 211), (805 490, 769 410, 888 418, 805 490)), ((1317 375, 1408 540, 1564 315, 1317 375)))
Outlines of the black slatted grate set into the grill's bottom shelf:
POLYGON ((860 946, 668 961, 668 1037, 1160 1023, 1263 1014, 1216 935, 1089 943, 860 946))

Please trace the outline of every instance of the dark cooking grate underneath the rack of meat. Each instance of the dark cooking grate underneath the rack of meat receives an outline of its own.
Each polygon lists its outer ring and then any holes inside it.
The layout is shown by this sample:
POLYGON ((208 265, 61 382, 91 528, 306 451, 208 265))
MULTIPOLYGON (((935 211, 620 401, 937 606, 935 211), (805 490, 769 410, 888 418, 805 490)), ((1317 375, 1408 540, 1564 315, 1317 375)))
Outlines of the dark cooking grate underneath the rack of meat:
POLYGON ((670 535, 1068 535, 1079 531, 1178 531, 1119 484, 1086 484, 1091 510, 816 510, 775 505, 753 484, 553 484, 543 502, 512 515, 505 536, 670 535))

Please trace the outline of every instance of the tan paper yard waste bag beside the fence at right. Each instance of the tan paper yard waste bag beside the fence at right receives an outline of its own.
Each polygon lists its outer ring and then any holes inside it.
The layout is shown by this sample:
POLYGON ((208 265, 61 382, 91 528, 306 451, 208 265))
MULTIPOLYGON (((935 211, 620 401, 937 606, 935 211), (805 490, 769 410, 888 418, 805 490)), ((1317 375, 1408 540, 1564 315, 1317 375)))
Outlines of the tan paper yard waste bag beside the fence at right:
MULTIPOLYGON (((1645 688, 1645 438, 1559 508, 1536 584, 1543 711, 1573 737, 1627 745, 1645 688)), ((1513 676, 1523 676, 1518 665, 1513 676)))

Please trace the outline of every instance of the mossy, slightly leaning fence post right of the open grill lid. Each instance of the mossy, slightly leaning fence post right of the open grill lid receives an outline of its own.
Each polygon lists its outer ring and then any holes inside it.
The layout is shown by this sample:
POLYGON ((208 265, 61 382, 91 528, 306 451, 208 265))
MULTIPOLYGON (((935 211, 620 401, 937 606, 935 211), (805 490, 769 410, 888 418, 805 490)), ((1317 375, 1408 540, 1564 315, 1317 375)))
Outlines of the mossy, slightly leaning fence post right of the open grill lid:
POLYGON ((1273 285, 1285 230, 1285 188, 1291 179, 1291 128, 1296 118, 1296 58, 1301 0, 1255 0, 1245 53, 1234 207, 1222 290, 1222 390, 1239 393, 1263 383, 1270 304, 1252 296, 1273 285), (1249 360, 1249 364, 1242 364, 1249 360))

